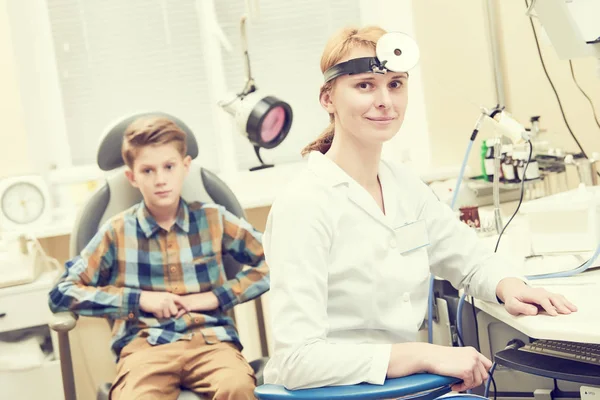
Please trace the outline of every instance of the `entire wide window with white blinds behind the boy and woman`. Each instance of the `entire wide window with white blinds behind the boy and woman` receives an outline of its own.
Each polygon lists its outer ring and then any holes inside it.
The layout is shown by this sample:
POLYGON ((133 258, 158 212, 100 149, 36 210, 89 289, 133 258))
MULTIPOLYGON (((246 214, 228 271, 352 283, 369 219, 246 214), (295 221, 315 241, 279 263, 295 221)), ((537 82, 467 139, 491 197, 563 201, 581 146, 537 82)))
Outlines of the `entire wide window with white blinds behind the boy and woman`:
MULTIPOLYGON (((152 110, 185 121, 199 142, 201 162, 215 172, 256 165, 252 145, 217 106, 227 91, 239 92, 245 83, 240 17, 247 3, 9 0, 26 129, 38 144, 31 149, 36 170, 45 173, 55 165, 55 174, 64 171, 74 179, 97 174, 93 166, 104 130, 126 115, 152 110), (231 52, 221 48, 213 22, 231 43, 231 52)), ((259 94, 290 103, 294 112, 286 140, 262 155, 266 162, 291 163, 328 124, 317 99, 327 38, 347 25, 381 24, 410 33, 412 9, 410 2, 395 0, 256 4, 258 18, 251 16, 247 24, 253 77, 259 94)), ((411 88, 403 127, 411 140, 398 137, 387 145, 395 158, 406 147, 413 155, 414 148, 428 153, 418 71, 411 71, 411 88)))

